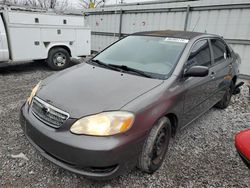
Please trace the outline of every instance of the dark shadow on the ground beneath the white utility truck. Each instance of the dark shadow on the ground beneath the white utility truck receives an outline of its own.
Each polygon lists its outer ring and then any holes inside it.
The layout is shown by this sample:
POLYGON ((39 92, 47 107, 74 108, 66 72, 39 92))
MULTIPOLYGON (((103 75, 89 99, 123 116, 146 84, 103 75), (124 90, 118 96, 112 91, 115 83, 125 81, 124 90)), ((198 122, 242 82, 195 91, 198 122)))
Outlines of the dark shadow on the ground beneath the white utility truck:
POLYGON ((0 75, 33 72, 33 71, 53 72, 42 61, 20 62, 20 63, 13 63, 13 64, 12 63, 0 64, 0 75))

